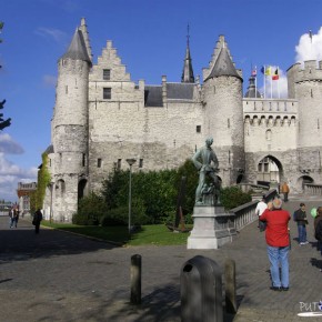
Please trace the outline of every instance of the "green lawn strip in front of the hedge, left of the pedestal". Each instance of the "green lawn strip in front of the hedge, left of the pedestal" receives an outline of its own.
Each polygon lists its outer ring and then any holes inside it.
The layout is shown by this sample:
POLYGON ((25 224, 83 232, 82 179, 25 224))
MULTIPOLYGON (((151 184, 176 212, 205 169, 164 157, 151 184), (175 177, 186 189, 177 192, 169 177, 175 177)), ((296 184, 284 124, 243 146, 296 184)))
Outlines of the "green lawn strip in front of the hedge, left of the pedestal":
POLYGON ((83 234, 90 238, 119 243, 121 245, 180 245, 185 244, 189 233, 172 232, 164 224, 142 225, 129 235, 127 227, 77 225, 42 221, 42 225, 83 234))

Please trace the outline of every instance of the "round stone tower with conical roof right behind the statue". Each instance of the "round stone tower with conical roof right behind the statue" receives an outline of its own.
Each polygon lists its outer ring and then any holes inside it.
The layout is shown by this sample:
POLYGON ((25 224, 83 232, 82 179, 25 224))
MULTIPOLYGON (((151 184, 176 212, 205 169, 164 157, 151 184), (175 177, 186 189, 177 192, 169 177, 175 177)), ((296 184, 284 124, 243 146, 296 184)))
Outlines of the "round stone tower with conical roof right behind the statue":
POLYGON ((242 77, 221 36, 208 69, 203 69, 204 129, 213 137, 224 185, 235 183, 244 171, 242 77))

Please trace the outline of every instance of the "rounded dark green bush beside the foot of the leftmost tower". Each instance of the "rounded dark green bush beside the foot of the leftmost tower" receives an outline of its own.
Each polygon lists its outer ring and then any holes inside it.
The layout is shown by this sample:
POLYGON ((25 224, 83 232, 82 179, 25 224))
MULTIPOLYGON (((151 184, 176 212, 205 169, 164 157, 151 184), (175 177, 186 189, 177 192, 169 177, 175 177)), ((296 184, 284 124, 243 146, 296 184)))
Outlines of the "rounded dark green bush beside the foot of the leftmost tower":
POLYGON ((92 192, 79 200, 78 212, 72 217, 72 223, 97 225, 107 211, 104 199, 92 192))

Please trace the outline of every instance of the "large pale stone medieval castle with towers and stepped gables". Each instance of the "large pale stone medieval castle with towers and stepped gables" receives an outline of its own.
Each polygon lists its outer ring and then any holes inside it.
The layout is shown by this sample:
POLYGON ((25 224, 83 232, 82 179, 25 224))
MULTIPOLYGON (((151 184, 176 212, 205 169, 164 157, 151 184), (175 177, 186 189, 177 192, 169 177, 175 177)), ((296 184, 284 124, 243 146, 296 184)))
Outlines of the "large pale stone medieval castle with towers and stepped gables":
POLYGON ((264 99, 234 67, 221 36, 195 79, 187 46, 181 82, 131 80, 108 41, 93 63, 84 19, 58 62, 44 212, 71 221, 78 200, 113 169, 181 165, 213 137, 222 185, 286 181, 291 191, 322 182, 322 61, 288 70, 288 99, 264 99), (321 121, 320 121, 321 118, 321 121), (320 125, 321 122, 321 125, 320 125))

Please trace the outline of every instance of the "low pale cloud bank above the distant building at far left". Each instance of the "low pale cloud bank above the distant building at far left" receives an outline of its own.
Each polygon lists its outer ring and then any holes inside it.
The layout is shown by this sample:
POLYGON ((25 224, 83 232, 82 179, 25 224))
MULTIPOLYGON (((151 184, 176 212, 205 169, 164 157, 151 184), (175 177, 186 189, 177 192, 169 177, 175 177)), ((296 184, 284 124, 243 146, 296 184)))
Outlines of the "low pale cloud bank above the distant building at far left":
POLYGON ((36 182, 37 168, 21 169, 0 153, 0 199, 17 201, 18 182, 36 182))

